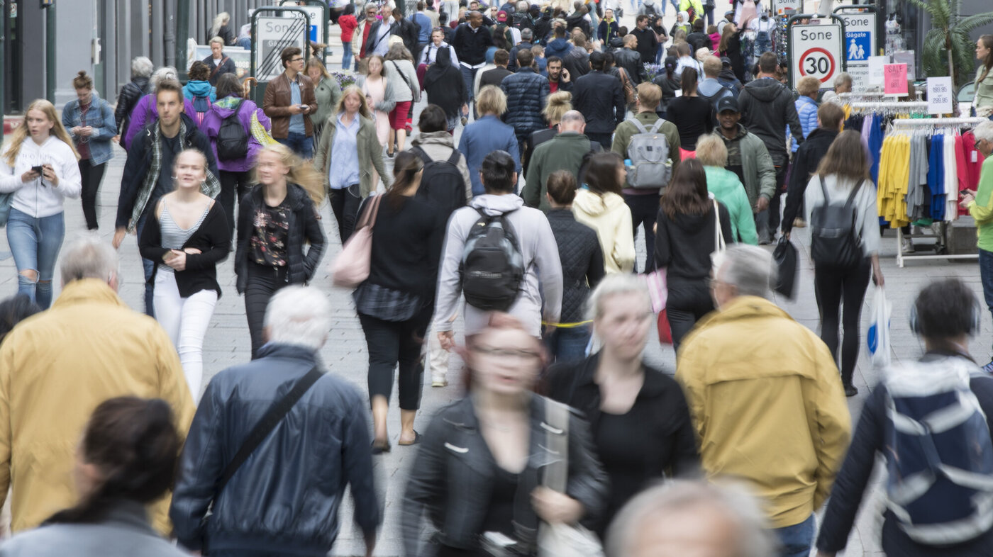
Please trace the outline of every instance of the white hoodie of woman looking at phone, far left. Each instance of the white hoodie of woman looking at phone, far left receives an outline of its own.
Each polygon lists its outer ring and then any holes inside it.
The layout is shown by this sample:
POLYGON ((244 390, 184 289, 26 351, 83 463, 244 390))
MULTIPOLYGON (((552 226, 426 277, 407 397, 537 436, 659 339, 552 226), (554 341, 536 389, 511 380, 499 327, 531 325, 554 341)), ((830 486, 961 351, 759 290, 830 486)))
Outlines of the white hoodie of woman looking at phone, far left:
POLYGON ((11 207, 35 218, 43 218, 63 212, 65 198, 79 198, 79 166, 72 148, 63 140, 49 136, 45 143, 38 145, 31 137, 26 138, 21 143, 14 168, 6 160, 10 146, 7 143, 0 153, 0 194, 14 192, 11 207), (21 182, 21 175, 31 170, 31 167, 42 165, 52 165, 55 169, 59 178, 58 188, 54 188, 43 178, 21 182))

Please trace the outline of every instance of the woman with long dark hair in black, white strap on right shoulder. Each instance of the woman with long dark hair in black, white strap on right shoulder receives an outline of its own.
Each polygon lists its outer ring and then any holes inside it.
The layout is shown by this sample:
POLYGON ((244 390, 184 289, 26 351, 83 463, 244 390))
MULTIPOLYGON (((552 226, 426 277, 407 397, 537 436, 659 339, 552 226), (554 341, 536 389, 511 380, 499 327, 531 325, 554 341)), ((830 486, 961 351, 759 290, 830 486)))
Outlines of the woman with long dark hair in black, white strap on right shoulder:
POLYGON ((690 159, 679 163, 662 196, 655 232, 655 265, 665 267, 669 297, 665 304, 672 328, 672 348, 697 320, 714 311, 709 281, 711 254, 733 243, 728 209, 711 200, 703 165, 690 159))

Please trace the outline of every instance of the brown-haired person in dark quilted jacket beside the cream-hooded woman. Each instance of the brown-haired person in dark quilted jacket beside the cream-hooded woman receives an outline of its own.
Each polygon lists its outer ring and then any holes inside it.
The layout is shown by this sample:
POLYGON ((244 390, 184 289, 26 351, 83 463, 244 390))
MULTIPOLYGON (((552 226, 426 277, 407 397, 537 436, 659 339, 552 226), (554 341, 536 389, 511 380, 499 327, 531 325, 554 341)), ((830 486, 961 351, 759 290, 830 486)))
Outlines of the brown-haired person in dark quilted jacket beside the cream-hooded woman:
POLYGON ((546 216, 562 260, 562 313, 555 330, 542 338, 552 360, 570 361, 582 358, 590 344, 590 323, 583 317, 583 306, 590 290, 604 278, 604 251, 597 231, 573 215, 576 176, 567 170, 555 171, 548 177, 547 189, 551 209, 546 216))

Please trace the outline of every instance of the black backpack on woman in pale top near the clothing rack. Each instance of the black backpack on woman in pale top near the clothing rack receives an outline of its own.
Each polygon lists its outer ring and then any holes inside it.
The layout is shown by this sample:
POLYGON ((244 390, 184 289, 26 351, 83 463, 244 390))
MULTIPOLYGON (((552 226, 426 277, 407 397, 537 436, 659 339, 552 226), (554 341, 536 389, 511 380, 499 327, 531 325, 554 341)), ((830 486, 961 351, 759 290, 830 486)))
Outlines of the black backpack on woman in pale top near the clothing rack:
POLYGON ((852 203, 862 182, 859 180, 852 188, 845 205, 837 206, 830 204, 824 177, 820 177, 824 205, 810 208, 810 258, 814 265, 851 268, 864 258, 858 232, 859 212, 852 203))

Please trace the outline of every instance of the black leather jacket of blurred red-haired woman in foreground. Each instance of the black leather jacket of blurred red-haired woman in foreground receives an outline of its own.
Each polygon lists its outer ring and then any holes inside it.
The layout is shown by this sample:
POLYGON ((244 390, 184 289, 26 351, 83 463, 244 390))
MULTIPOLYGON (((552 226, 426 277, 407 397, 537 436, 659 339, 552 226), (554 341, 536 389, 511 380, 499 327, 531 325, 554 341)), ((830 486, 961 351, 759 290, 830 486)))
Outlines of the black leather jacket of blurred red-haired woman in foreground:
MULTIPOLYGON (((530 493, 541 483, 541 471, 554 457, 544 448, 545 399, 531 397, 530 457, 519 475, 518 493, 530 493)), ((490 504, 495 468, 490 449, 480 432, 473 400, 466 397, 442 408, 428 426, 421 449, 411 467, 403 498, 401 528, 404 555, 427 555, 421 548, 421 515, 426 512, 435 528, 433 543, 460 549, 477 549, 490 504)), ((608 481, 597 460, 589 426, 576 417, 569 421, 569 481, 566 492, 585 508, 584 523, 604 509, 608 481)), ((518 495, 519 496, 519 495, 518 495)), ((532 546, 538 517, 530 504, 518 505, 514 521, 519 542, 532 546)), ((525 551, 526 553, 526 551, 525 551)))

